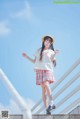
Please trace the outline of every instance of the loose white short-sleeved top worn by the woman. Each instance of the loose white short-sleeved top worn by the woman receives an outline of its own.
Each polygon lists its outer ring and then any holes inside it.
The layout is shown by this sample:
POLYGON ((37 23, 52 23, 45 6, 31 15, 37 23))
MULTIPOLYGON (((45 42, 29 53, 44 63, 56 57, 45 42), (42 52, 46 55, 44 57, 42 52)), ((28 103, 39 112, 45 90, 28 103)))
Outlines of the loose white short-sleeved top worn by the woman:
POLYGON ((50 70, 53 72, 53 60, 55 60, 55 52, 51 49, 44 50, 42 52, 42 60, 40 59, 41 49, 38 49, 34 56, 36 57, 34 69, 50 70))

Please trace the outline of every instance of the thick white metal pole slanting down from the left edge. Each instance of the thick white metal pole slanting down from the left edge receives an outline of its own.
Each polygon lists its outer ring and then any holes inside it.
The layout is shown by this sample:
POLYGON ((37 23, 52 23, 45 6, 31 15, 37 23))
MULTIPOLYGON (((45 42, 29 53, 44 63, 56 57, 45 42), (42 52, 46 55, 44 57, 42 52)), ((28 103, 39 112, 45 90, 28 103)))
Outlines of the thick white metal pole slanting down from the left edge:
POLYGON ((18 93, 15 89, 13 84, 10 82, 8 77, 5 75, 3 70, 0 68, 0 80, 5 84, 6 88, 8 89, 9 93, 12 95, 13 99, 16 101, 17 105, 21 109, 23 114, 23 119, 32 119, 31 110, 28 108, 27 103, 22 98, 22 96, 18 93))

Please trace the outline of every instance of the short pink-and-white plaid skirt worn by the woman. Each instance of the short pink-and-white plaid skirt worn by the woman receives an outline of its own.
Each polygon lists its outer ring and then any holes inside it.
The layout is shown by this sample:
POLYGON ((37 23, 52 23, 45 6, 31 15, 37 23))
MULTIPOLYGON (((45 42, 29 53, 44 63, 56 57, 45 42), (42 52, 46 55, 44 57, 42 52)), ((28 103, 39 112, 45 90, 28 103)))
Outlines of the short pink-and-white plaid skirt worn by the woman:
POLYGON ((49 70, 35 70, 36 71, 36 85, 43 84, 45 81, 53 83, 55 81, 53 72, 49 70))

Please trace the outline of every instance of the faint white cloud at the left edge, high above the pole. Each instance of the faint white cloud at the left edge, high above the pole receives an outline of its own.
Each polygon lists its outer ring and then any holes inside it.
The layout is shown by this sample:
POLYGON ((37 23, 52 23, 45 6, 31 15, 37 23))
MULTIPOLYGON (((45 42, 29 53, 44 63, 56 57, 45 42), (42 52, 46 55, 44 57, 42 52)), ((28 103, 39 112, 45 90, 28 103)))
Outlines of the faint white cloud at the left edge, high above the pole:
POLYGON ((6 22, 0 22, 0 36, 8 35, 11 29, 8 27, 6 22))

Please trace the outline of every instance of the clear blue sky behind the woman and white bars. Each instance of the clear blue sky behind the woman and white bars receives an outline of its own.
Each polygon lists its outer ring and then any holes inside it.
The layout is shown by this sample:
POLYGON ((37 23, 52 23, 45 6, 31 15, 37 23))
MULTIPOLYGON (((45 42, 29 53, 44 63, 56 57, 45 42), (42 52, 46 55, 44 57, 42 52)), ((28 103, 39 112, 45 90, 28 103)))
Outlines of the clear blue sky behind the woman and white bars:
MULTIPOLYGON (((57 82, 80 57, 79 11, 80 4, 54 4, 53 0, 0 1, 0 68, 20 95, 32 101, 32 104, 41 98, 41 88, 35 84, 34 64, 23 58, 22 52, 34 58, 35 50, 41 47, 41 38, 47 34, 53 35, 54 48, 60 50, 54 69, 57 82)), ((79 80, 76 81, 76 86, 79 83, 79 80)), ((79 94, 75 97, 79 97, 79 94)), ((0 105, 8 107, 11 98, 0 80, 0 105)))

